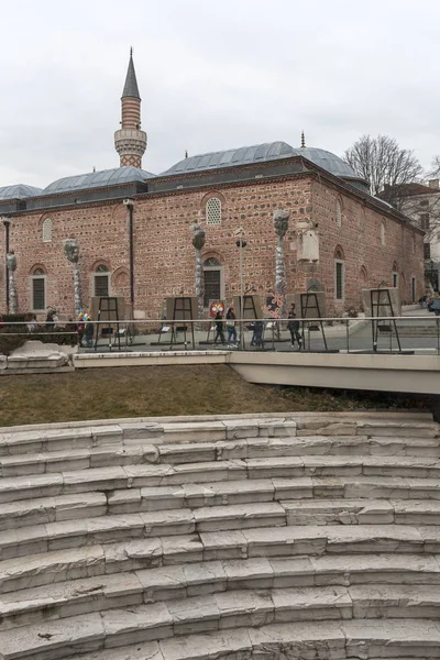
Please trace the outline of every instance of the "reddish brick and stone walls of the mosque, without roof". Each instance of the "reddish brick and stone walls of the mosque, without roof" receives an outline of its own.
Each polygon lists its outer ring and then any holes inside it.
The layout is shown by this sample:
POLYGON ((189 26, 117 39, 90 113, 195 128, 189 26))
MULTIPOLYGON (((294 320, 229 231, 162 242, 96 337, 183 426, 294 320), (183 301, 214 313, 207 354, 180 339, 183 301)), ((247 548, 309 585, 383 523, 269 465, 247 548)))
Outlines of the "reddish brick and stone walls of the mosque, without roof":
MULTIPOLYGON (((176 190, 139 196, 134 206, 135 309, 146 318, 157 318, 168 295, 194 295, 195 251, 190 224, 195 219, 206 229, 206 258, 215 256, 223 267, 224 296, 239 293, 239 250, 234 230, 244 228, 244 284, 264 295, 274 289, 275 244, 272 213, 290 211, 285 239, 287 290, 305 290, 309 278, 326 288, 327 309, 341 314, 360 308, 361 288, 381 282, 392 284, 397 265, 403 301, 411 301, 411 277, 417 296, 421 294, 422 235, 391 215, 373 209, 360 197, 311 175, 261 180, 219 188, 176 190), (206 202, 221 200, 220 224, 207 224, 206 202), (340 223, 337 217, 340 204, 340 223), (297 261, 296 222, 317 224, 320 245, 318 263, 297 261), (384 223, 384 234, 382 228, 384 223), (383 238, 385 239, 383 244, 383 238), (344 298, 336 300, 334 254, 343 254, 344 298)), ((111 293, 129 300, 129 211, 122 202, 81 205, 47 212, 22 212, 13 217, 10 245, 18 257, 15 273, 19 307, 31 306, 31 275, 44 268, 47 277, 46 304, 62 314, 73 314, 72 264, 64 256, 63 241, 75 238, 80 249, 80 274, 86 304, 92 294, 92 276, 99 264, 111 274, 111 293), (52 220, 52 241, 43 242, 42 226, 52 220)), ((0 254, 4 254, 4 233, 0 232, 0 254)), ((4 266, 4 257, 1 256, 4 266)), ((6 308, 6 283, 0 266, 0 309, 6 308)))

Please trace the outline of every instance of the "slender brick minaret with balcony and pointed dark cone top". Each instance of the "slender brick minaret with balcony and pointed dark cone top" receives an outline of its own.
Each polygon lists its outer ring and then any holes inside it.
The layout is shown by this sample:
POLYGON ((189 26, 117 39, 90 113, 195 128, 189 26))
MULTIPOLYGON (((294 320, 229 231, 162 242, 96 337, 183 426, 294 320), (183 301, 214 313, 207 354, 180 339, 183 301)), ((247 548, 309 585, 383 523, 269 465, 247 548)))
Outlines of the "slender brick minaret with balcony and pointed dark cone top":
POLYGON ((122 91, 121 107, 121 129, 114 133, 114 147, 121 158, 120 166, 142 167, 142 156, 146 148, 146 133, 141 131, 141 97, 134 72, 133 48, 130 48, 129 69, 122 91))

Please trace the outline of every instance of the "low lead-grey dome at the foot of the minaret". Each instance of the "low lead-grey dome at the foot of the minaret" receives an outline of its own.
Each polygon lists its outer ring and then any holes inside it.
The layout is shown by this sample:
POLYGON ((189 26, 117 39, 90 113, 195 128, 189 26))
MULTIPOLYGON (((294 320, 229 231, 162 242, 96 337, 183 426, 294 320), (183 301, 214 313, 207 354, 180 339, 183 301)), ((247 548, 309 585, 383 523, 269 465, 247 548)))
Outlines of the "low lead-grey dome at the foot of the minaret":
POLYGON ((114 167, 113 169, 101 169, 76 176, 66 176, 57 179, 44 188, 43 195, 58 193, 75 193, 76 190, 88 190, 89 188, 108 188, 109 186, 123 186, 134 182, 145 182, 154 177, 151 172, 138 167, 114 167))

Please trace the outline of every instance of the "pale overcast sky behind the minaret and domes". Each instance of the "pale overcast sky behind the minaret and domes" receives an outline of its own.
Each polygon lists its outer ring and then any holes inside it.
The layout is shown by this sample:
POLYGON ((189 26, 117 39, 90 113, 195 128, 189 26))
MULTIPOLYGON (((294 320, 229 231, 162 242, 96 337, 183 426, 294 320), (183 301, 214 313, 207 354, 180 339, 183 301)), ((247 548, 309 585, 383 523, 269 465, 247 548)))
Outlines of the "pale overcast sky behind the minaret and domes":
POLYGON ((0 0, 0 186, 119 165, 130 45, 143 167, 283 140, 342 155, 388 134, 440 153, 440 3, 0 0))

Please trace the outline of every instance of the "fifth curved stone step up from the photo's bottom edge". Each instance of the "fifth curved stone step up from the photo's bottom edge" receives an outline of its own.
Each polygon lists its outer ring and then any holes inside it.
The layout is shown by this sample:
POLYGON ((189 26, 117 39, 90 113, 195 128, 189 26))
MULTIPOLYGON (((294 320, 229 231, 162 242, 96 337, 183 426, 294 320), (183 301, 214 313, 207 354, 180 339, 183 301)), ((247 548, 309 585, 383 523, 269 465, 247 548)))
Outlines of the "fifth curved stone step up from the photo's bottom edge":
MULTIPOLYGON (((81 502, 79 496, 70 496, 70 502, 65 502, 61 510, 61 516, 67 514, 64 519, 0 531, 0 560, 78 546, 94 546, 100 542, 112 543, 121 539, 152 539, 157 536, 221 532, 257 527, 389 526, 393 522, 405 527, 414 525, 435 527, 440 522, 439 501, 282 499, 228 506, 200 506, 194 509, 176 508, 102 515, 107 509, 106 496, 101 494, 101 497, 97 497, 98 494, 95 493, 92 495, 95 517, 82 517, 84 510, 87 510, 87 502, 81 502), (70 508, 66 509, 68 506, 70 508), (79 517, 75 517, 75 513, 79 517)), ((51 508, 43 510, 56 513, 51 508)), ((41 515, 38 510, 36 513, 41 515)), ((3 518, 8 520, 4 512, 3 518)), ((433 534, 435 529, 431 532, 433 534)))

